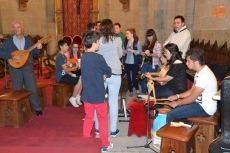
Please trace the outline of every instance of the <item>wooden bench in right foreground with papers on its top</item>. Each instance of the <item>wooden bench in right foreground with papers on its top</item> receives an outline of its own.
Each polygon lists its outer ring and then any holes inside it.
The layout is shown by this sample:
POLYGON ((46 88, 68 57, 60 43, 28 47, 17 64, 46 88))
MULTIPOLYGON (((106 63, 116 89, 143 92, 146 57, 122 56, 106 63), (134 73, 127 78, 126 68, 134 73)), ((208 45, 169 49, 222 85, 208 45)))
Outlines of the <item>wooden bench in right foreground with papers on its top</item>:
POLYGON ((195 133, 197 125, 188 127, 171 127, 170 123, 157 131, 162 137, 160 153, 191 153, 195 150, 195 133))

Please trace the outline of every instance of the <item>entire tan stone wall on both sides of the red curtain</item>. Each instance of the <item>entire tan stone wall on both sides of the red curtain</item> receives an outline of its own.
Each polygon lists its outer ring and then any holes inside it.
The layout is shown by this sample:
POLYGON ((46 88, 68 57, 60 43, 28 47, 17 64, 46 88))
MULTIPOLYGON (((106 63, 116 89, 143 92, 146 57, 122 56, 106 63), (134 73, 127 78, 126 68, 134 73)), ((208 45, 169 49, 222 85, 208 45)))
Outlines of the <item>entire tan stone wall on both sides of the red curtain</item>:
MULTIPOLYGON (((57 51, 55 26, 55 0, 29 0, 27 11, 19 11, 18 0, 0 0, 0 36, 12 34, 11 24, 15 20, 22 21, 25 34, 45 36, 51 34, 48 53, 57 51)), ((99 20, 110 18, 119 22, 122 31, 135 28, 142 44, 145 31, 155 29, 161 43, 173 30, 173 18, 183 15, 192 38, 204 39, 205 42, 217 40, 219 45, 230 44, 230 16, 213 18, 214 6, 226 6, 229 0, 130 0, 129 11, 122 10, 119 0, 99 0, 99 20)), ((226 13, 227 14, 227 13, 226 13)))

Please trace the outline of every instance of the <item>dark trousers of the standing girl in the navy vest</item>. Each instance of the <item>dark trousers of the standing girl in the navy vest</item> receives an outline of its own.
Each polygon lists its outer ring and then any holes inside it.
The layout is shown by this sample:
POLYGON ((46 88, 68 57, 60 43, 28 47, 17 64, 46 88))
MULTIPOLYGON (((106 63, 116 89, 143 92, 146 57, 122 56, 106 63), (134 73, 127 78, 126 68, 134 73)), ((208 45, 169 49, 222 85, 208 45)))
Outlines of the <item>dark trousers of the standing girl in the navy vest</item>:
POLYGON ((127 74, 129 92, 133 92, 133 87, 136 90, 139 90, 137 81, 138 68, 139 65, 136 64, 125 64, 125 72, 127 74))

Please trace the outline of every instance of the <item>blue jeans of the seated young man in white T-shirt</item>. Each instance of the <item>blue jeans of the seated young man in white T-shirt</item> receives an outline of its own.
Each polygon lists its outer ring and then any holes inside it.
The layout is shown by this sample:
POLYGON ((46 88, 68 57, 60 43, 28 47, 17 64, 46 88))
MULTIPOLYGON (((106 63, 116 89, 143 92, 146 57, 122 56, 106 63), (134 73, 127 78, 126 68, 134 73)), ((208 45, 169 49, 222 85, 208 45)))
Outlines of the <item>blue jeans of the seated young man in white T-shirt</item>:
POLYGON ((204 111, 199 103, 193 102, 191 104, 178 106, 172 109, 170 112, 168 112, 166 120, 167 122, 170 122, 173 119, 182 119, 197 116, 208 117, 210 115, 204 111))

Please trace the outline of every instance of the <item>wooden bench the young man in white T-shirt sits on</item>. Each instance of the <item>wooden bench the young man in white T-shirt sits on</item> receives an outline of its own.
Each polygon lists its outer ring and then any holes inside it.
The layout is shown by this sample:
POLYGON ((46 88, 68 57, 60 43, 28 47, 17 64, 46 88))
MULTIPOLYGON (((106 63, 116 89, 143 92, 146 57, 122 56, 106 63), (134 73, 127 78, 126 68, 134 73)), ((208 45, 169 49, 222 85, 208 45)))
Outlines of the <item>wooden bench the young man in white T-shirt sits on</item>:
POLYGON ((191 117, 188 120, 199 126, 195 139, 196 153, 207 153, 209 145, 216 138, 215 127, 219 123, 220 113, 217 112, 211 117, 191 117))

